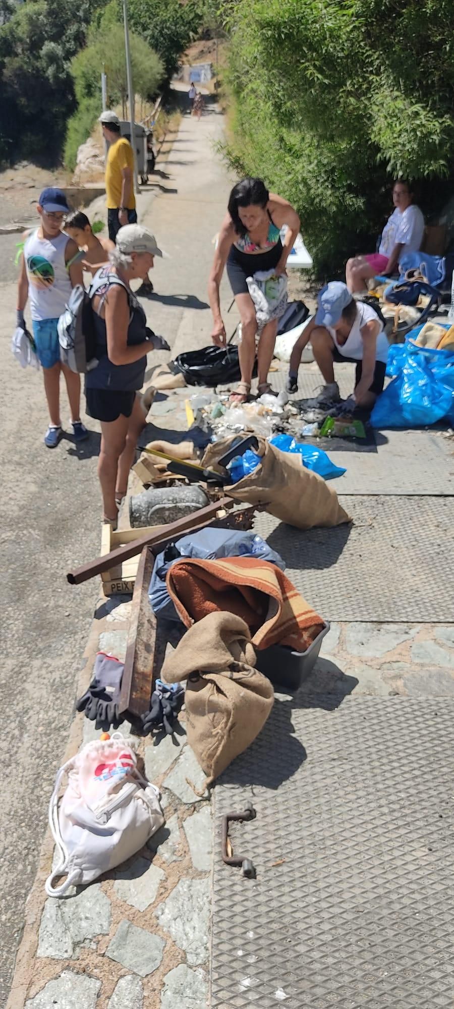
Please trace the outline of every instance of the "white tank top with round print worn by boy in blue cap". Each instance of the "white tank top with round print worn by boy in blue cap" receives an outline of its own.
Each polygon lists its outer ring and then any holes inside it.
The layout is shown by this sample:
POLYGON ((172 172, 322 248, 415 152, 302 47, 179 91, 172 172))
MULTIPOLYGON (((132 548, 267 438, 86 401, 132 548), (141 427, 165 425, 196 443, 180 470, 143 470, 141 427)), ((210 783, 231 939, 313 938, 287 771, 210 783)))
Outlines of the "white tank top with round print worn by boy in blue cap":
POLYGON ((65 262, 69 241, 69 235, 63 231, 55 238, 38 238, 37 231, 33 231, 25 240, 23 257, 34 320, 58 319, 65 312, 72 291, 65 262))

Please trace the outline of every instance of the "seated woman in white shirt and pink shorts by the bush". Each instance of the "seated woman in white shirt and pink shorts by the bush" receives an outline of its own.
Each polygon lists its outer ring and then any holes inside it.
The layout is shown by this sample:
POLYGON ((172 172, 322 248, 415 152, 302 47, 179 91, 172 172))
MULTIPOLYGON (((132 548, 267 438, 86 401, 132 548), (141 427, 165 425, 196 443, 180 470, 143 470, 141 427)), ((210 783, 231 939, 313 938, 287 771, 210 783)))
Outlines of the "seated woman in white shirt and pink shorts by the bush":
POLYGON ((394 210, 384 225, 378 252, 357 255, 347 262, 345 281, 351 294, 362 292, 373 276, 391 276, 405 252, 418 252, 424 234, 424 217, 413 203, 410 183, 398 180, 392 187, 394 210))

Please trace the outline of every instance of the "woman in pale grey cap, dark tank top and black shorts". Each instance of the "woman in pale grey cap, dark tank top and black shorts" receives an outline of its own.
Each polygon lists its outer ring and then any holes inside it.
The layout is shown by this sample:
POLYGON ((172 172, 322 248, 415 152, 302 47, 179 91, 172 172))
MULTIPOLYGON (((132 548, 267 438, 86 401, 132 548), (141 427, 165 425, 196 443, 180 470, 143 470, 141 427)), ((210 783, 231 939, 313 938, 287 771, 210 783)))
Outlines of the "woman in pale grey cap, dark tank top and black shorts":
POLYGON ((137 438, 144 426, 136 393, 143 385, 146 354, 153 347, 168 349, 146 326, 145 313, 130 282, 143 279, 162 255, 154 235, 139 224, 120 228, 109 264, 93 278, 98 365, 85 378, 87 413, 101 423, 98 476, 104 502, 104 521, 117 525, 126 493, 137 438))

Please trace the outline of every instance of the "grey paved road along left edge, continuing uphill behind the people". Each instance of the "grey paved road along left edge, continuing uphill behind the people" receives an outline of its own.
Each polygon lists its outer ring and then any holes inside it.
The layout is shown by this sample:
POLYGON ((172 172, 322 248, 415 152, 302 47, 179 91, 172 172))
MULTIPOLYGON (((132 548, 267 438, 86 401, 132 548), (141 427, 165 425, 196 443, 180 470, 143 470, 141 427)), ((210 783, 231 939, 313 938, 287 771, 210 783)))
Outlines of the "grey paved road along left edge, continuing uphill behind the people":
MULTIPOLYGON (((215 110, 201 122, 184 118, 165 171, 156 177, 156 199, 144 217, 172 255, 156 262, 157 294, 145 306, 148 322, 172 346, 178 338, 179 349, 190 340, 191 332, 197 331, 200 338, 205 331, 207 341, 209 336, 207 273, 212 239, 229 189, 221 161, 213 158, 213 143, 221 135, 222 117, 215 110)), ((5 270, 9 275, 9 244, 10 239, 0 244, 3 277, 5 270)), ((227 287, 224 297, 227 302, 227 287)), ((83 449, 77 449, 70 437, 54 451, 44 448, 47 418, 41 376, 22 371, 9 349, 15 324, 13 284, 0 285, 0 299, 4 391, 0 1004, 4 1004, 98 592, 95 582, 70 587, 65 573, 70 565, 98 552, 101 506, 96 479, 97 426, 89 422, 92 434, 83 449)), ((150 355, 149 363, 153 358, 157 360, 155 354, 150 355)), ((64 403, 64 423, 68 416, 64 403)))

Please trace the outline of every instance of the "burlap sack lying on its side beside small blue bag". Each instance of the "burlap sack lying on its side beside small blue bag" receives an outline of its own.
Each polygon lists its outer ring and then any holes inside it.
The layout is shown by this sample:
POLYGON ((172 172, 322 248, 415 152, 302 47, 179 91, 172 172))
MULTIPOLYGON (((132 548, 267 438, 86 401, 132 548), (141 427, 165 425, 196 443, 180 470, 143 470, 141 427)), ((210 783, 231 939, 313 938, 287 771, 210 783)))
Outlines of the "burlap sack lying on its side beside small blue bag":
MULTIPOLYGON (((230 497, 248 504, 266 504, 269 515, 298 529, 341 526, 350 522, 334 488, 318 473, 306 469, 300 455, 280 452, 264 438, 257 438, 257 441, 261 463, 253 473, 225 487, 230 497)), ((216 469, 217 460, 232 442, 233 437, 209 445, 202 465, 216 469)))

